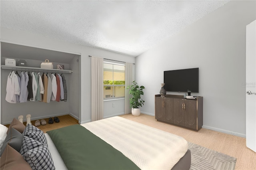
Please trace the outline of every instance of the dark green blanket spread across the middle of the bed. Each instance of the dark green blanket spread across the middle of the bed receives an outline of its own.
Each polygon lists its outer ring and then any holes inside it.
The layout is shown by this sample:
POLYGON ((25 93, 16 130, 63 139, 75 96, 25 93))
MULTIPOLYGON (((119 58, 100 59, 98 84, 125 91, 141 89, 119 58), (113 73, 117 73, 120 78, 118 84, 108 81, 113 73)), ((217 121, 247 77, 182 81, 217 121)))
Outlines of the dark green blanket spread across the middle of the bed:
POLYGON ((130 159, 81 125, 50 130, 62 160, 69 170, 135 170, 130 159))

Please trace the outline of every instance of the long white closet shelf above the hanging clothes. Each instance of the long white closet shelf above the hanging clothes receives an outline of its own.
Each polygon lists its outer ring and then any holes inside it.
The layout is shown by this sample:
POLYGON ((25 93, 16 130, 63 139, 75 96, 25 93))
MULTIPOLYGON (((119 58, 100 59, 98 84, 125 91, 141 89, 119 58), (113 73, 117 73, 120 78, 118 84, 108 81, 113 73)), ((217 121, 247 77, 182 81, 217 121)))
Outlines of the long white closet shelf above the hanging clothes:
POLYGON ((22 66, 11 66, 11 65, 1 65, 2 69, 12 69, 12 70, 26 70, 26 71, 53 71, 58 73, 72 73, 72 70, 60 70, 60 69, 43 69, 40 67, 22 67, 22 66))

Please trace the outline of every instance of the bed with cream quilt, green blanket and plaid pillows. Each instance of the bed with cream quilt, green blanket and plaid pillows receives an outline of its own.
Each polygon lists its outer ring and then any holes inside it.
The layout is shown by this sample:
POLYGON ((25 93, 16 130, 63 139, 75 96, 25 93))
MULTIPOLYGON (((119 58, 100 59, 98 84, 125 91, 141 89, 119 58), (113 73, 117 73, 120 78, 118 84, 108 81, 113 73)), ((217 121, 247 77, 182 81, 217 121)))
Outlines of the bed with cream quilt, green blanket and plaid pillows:
POLYGON ((56 170, 188 170, 191 164, 191 153, 184 138, 122 117, 50 130, 44 135, 30 125, 24 132, 20 153, 25 160, 30 158, 26 161, 32 169, 45 164, 44 167, 56 170), (28 128, 37 134, 28 133, 28 128), (35 137, 38 134, 40 138, 35 137), (26 150, 25 147, 24 150, 27 136, 40 140, 38 147, 47 146, 42 152, 46 153, 47 161, 42 158, 34 160, 39 155, 38 150, 26 156, 34 147, 28 146, 31 148, 26 150), (41 162, 34 164, 33 161, 41 162))

